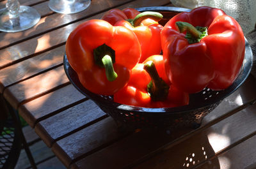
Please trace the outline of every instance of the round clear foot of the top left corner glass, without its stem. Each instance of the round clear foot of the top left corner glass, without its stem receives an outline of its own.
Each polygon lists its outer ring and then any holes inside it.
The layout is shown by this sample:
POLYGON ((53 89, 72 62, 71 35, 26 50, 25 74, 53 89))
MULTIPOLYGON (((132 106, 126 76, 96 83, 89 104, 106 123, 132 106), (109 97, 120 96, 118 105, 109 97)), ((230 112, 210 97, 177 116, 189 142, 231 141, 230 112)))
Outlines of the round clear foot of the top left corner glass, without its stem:
POLYGON ((19 16, 10 17, 6 8, 0 10, 0 31, 15 33, 35 26, 40 20, 40 14, 29 6, 20 6, 19 16))

